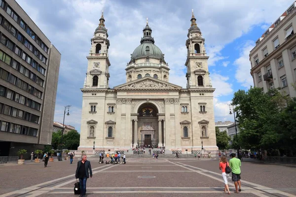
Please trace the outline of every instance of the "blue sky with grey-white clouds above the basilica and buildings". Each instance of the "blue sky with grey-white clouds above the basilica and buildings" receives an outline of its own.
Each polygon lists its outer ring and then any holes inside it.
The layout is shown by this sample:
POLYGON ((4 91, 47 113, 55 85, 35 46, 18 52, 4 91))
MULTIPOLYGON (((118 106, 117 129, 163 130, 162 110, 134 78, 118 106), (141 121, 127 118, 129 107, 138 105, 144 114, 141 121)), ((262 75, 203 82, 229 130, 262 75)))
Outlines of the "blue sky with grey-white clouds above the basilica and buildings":
POLYGON ((253 84, 249 52, 294 0, 16 0, 62 54, 54 120, 80 131, 82 93, 92 37, 104 9, 110 50, 110 87, 125 82, 125 66, 140 45, 148 17, 155 45, 169 63, 170 82, 186 86, 185 61, 191 9, 205 38, 215 121, 233 121, 233 93, 253 84))

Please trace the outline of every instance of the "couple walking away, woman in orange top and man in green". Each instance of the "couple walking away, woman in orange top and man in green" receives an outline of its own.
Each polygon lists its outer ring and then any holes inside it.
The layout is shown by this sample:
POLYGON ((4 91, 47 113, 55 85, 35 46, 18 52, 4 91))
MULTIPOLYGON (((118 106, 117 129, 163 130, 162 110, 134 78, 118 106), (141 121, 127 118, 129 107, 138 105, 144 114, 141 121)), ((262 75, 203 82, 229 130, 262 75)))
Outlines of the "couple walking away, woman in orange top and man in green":
POLYGON ((228 178, 229 178, 230 171, 231 171, 231 175, 232 175, 231 179, 234 182, 234 186, 235 186, 235 193, 241 192, 241 181, 240 181, 241 169, 240 169, 240 166, 242 164, 241 164, 241 161, 235 157, 234 153, 231 153, 230 157, 231 157, 231 159, 229 160, 229 163, 228 163, 226 156, 222 156, 220 158, 220 164, 219 164, 219 169, 222 170, 222 177, 223 177, 224 184, 225 184, 223 191, 227 194, 230 194, 229 187, 228 187, 228 178), (227 167, 230 167, 231 170, 226 169, 227 167))

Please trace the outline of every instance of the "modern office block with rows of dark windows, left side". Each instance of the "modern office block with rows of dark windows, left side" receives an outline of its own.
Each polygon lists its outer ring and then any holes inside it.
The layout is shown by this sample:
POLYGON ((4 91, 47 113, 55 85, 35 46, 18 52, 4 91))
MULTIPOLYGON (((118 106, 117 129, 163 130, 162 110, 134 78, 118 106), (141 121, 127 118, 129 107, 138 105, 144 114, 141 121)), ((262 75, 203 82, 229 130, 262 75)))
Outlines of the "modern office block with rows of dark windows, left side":
POLYGON ((19 4, 0 0, 0 156, 51 144, 60 60, 19 4))

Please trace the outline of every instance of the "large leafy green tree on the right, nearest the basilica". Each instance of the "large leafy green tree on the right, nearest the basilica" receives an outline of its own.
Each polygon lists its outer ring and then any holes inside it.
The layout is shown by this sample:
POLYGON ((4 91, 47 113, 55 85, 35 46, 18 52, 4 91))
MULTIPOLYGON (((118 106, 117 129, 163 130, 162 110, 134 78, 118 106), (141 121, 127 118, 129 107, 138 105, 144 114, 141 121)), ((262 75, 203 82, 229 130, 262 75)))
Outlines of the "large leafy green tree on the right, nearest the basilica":
POLYGON ((241 145, 246 148, 270 148, 280 140, 277 122, 280 117, 282 100, 278 90, 262 93, 260 88, 234 93, 232 104, 239 123, 241 145))

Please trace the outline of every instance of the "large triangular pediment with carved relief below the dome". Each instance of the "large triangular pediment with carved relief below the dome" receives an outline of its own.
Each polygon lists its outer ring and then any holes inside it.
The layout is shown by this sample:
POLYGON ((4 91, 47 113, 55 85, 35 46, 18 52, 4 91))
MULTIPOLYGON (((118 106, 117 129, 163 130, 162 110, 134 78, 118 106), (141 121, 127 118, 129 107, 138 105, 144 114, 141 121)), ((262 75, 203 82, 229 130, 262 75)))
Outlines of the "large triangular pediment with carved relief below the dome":
POLYGON ((168 90, 181 90, 181 86, 155 79, 153 77, 143 77, 134 81, 130 81, 119 86, 114 87, 115 90, 132 90, 132 89, 168 89, 168 90))

